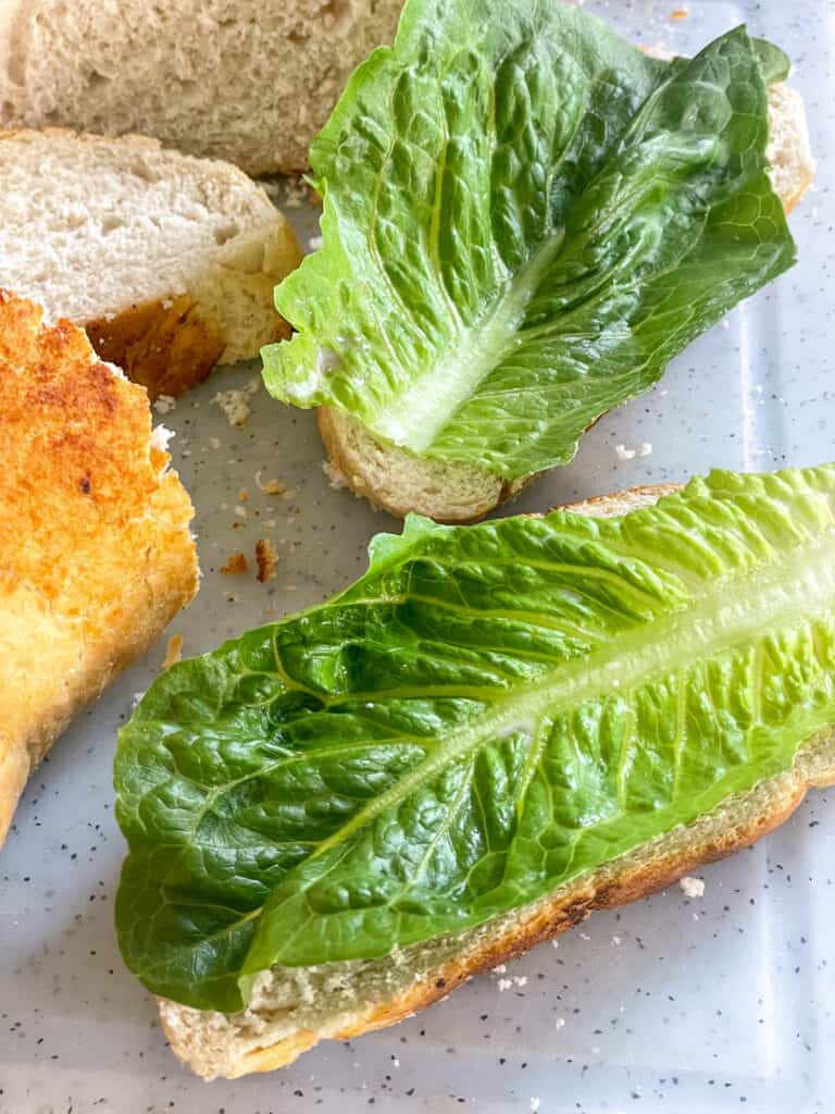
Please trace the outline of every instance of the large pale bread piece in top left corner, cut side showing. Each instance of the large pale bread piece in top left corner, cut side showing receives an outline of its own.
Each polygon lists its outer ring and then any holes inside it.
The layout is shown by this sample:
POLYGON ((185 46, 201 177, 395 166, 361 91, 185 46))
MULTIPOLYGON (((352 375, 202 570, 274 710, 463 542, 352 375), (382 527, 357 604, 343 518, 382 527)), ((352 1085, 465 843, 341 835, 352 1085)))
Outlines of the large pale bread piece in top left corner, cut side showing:
POLYGON ((0 126, 156 136, 299 173, 402 0, 0 0, 0 126))

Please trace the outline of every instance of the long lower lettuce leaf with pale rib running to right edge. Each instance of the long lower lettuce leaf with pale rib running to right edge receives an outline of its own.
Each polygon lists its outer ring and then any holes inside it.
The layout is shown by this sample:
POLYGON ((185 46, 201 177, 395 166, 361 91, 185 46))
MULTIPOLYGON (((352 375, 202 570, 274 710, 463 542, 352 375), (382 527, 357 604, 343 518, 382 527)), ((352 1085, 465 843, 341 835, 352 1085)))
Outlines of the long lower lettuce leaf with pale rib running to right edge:
POLYGON ((787 769, 835 723, 834 558, 835 465, 377 537, 121 731, 128 966, 235 1010, 258 970, 481 924, 787 769))

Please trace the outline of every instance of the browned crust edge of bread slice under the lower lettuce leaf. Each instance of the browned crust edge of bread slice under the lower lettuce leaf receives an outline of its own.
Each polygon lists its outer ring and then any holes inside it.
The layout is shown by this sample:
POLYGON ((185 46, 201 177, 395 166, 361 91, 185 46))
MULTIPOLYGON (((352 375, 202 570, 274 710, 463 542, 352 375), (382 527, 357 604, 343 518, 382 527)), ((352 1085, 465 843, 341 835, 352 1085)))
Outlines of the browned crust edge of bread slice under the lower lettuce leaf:
MULTIPOLYGON (((591 517, 612 517, 651 506, 679 489, 680 485, 676 483, 647 485, 557 509, 591 517)), ((786 773, 760 783, 746 794, 755 804, 750 814, 737 811, 734 799, 730 799, 682 829, 695 837, 686 846, 681 846, 675 832, 668 833, 649 844, 650 853, 637 849, 590 876, 560 887, 520 910, 519 916, 499 918, 495 931, 478 947, 463 949, 449 961, 439 964, 429 977, 412 983, 405 994, 357 1012, 348 1025, 336 1032, 316 1033, 301 1028, 288 1037, 257 1048, 252 1048, 250 1042, 233 1037, 223 1061, 219 1061, 200 1052, 197 1042, 191 1039, 200 1013, 159 999, 160 1019, 171 1049, 198 1075, 238 1078, 254 1072, 284 1067, 321 1039, 348 1040, 403 1020, 445 997, 466 979, 528 951, 543 940, 560 936, 593 911, 637 901, 699 867, 750 847, 767 836, 788 819, 809 789, 835 784, 835 731, 823 732, 813 742, 816 749, 811 759, 796 762, 786 773), (724 820, 718 833, 713 822, 717 814, 721 814, 724 820)))

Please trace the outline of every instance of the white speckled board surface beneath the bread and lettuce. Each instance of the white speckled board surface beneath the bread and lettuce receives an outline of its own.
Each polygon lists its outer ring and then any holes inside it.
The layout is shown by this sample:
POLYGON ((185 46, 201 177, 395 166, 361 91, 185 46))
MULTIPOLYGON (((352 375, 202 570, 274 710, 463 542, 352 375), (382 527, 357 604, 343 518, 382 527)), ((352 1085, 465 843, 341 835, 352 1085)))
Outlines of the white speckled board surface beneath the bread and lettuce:
MULTIPOLYGON (((601 421, 577 460, 530 488, 519 510, 713 465, 833 456, 835 6, 690 0, 689 18, 674 21, 677 7, 586 4, 640 41, 681 52, 746 17, 788 49, 819 160, 815 192, 792 222, 800 262, 694 344, 656 391, 601 421), (645 441, 649 456, 625 461, 616 451, 645 441)), ((288 212, 315 231, 312 211, 288 212)), ((255 375, 255 367, 223 371, 161 417, 177 431, 175 462, 198 509, 203 589, 171 627, 187 654, 346 584, 371 535, 394 526, 328 487, 310 414, 259 391, 249 424, 230 428, 212 399, 255 375), (262 494, 259 471, 293 494, 262 494), (262 537, 281 554, 274 580, 258 584, 252 568, 218 571, 236 551, 252 566, 262 537)), ((2 1114, 835 1110, 835 793, 814 794, 757 848, 705 870, 703 898, 676 887, 598 913, 558 948, 544 945, 393 1029, 321 1046, 285 1072, 237 1083, 193 1077, 166 1049, 112 929, 122 857, 115 731, 164 654, 165 639, 67 732, 0 857, 2 1114)))

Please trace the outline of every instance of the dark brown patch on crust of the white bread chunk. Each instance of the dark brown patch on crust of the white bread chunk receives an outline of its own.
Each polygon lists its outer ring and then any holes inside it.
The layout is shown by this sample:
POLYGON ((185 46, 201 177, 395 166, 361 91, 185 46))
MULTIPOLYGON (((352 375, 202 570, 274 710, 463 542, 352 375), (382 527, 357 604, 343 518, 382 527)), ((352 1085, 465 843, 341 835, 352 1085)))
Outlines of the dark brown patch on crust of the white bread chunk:
POLYGON ((151 400, 203 382, 226 348, 222 330, 188 294, 129 305, 85 329, 98 355, 121 368, 151 400))

